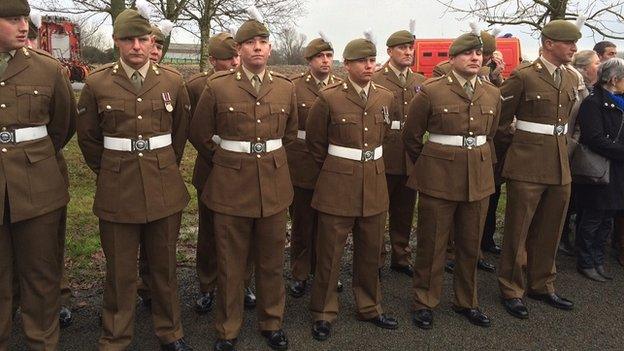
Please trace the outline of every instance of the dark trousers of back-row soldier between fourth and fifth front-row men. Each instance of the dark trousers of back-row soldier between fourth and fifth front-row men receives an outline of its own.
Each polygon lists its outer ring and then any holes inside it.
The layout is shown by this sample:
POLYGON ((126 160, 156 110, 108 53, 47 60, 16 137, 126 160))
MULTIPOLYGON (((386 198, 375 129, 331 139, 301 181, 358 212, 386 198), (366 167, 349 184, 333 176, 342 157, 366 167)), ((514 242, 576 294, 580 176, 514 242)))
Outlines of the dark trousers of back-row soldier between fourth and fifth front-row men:
MULTIPOLYGON (((388 209, 389 236, 391 245, 391 266, 408 266, 412 261, 410 234, 414 219, 416 192, 405 186, 409 176, 386 174, 390 207, 388 209)), ((386 261, 386 246, 382 246, 381 263, 386 261)))

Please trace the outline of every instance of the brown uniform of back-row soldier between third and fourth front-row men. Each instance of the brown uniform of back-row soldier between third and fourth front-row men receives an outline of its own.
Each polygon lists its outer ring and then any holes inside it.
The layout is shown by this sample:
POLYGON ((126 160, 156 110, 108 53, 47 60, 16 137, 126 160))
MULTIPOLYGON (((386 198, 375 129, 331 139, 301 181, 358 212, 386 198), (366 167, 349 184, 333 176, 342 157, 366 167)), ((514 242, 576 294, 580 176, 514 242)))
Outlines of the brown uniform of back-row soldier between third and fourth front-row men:
MULTIPOLYGON (((340 82, 334 75, 329 76, 329 83, 340 82)), ((310 206, 319 168, 308 151, 305 142, 305 124, 308 112, 321 88, 308 71, 293 78, 297 95, 299 126, 297 140, 286 148, 288 167, 294 188, 294 199, 290 206, 292 234, 290 244, 290 268, 292 276, 297 280, 307 280, 314 273, 316 263, 316 227, 317 213, 310 206)))

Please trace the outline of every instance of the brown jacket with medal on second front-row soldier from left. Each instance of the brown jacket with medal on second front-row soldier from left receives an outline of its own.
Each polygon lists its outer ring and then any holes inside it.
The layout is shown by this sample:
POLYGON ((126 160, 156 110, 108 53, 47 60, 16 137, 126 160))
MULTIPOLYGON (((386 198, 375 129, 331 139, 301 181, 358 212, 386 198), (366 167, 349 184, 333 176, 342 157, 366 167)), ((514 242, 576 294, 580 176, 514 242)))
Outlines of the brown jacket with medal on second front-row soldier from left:
POLYGON ((86 80, 78 102, 78 142, 97 174, 93 211, 117 223, 147 223, 181 211, 189 201, 178 169, 187 139, 189 98, 182 76, 151 64, 137 92, 120 64, 86 80), (172 112, 163 94, 169 93, 172 112), (148 139, 171 133, 172 145, 129 152, 104 149, 104 136, 148 139), (139 137, 140 136, 140 137, 139 137))

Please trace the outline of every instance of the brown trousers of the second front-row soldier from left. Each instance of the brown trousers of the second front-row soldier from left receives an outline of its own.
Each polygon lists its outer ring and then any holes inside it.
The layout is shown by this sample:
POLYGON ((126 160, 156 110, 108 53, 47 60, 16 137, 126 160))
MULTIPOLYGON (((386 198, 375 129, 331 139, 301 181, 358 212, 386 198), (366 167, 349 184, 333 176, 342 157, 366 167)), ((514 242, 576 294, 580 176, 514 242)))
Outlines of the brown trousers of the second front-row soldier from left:
POLYGON ((151 311, 156 336, 163 344, 183 337, 176 277, 176 241, 181 218, 178 212, 142 224, 100 219, 100 238, 106 256, 100 351, 125 350, 132 342, 142 233, 150 270, 148 282, 153 295, 151 311))

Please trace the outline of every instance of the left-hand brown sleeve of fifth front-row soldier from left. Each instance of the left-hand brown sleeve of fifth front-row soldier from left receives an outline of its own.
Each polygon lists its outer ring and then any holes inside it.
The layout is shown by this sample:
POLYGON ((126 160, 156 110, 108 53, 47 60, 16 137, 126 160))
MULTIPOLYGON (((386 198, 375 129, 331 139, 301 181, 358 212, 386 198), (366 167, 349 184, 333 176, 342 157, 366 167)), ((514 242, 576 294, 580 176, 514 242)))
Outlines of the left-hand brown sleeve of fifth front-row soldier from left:
POLYGON ((421 90, 407 106, 407 120, 403 128, 403 144, 412 162, 416 162, 423 148, 423 136, 427 132, 431 104, 426 90, 421 90))

